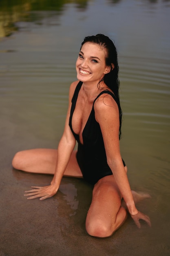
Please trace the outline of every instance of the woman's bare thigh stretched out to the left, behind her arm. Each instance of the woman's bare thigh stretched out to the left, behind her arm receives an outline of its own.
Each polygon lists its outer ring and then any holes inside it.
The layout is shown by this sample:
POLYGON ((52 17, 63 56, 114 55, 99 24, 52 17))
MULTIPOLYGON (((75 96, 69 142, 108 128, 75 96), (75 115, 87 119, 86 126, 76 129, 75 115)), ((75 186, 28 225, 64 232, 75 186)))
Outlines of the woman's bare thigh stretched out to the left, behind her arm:
MULTIPOLYGON (((73 151, 64 175, 82 177, 77 163, 76 152, 73 151)), ((29 173, 54 174, 57 162, 57 149, 36 148, 23 150, 15 154, 12 165, 15 169, 29 173)))

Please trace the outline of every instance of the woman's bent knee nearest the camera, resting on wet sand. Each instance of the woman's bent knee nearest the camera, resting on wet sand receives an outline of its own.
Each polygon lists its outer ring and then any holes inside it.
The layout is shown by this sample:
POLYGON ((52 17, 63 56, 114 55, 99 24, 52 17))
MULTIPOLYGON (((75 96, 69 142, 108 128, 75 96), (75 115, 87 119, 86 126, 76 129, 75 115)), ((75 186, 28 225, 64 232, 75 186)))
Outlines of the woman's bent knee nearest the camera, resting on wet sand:
POLYGON ((93 223, 86 223, 86 231, 90 236, 99 238, 105 238, 113 234, 111 226, 108 227, 101 220, 95 220, 93 223))

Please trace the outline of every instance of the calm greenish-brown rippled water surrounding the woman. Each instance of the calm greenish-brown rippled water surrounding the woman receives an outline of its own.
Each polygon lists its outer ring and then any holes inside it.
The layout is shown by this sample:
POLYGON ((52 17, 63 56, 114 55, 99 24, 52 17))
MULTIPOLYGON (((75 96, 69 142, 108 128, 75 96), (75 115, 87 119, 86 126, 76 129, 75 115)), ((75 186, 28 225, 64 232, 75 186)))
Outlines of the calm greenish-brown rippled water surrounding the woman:
MULTIPOLYGON (((144 229, 139 234, 130 222, 122 232, 130 229, 131 238, 125 240, 133 243, 134 255, 169 255, 170 1, 56 2, 25 0, 18 1, 18 5, 12 1, 10 6, 5 1, 0 4, 2 166, 10 166, 18 150, 57 147, 64 127, 68 88, 76 79, 79 46, 84 36, 108 35, 115 40, 119 56, 124 114, 122 157, 132 189, 152 195, 150 201, 139 204, 139 209, 152 220, 151 231, 144 229), (140 245, 144 243, 149 254, 137 251, 136 234, 143 237, 140 245), (161 250, 163 254, 159 254, 161 250)), ((7 173, 9 178, 10 168, 7 173)), ((39 178, 33 175, 13 171, 13 177, 14 187, 17 180, 23 189, 32 182, 39 185, 39 178), (20 183, 23 179, 26 182, 26 177, 28 184, 20 183)), ((45 182, 44 178, 41 182, 45 182)), ((65 179, 60 190, 68 203, 67 216, 75 218, 79 214, 80 222, 84 214, 84 206, 79 207, 84 200, 79 193, 82 181, 65 179)), ((91 189, 87 191, 90 198, 91 189)), ((61 198, 55 198, 55 202, 61 198)), ((119 233, 118 238, 124 236, 119 233)), ((101 246, 104 250, 104 242, 101 246)), ((110 247, 107 255, 119 255, 121 245, 117 242, 116 246, 117 251, 110 247)), ((128 248, 127 252, 124 255, 132 251, 128 248)))

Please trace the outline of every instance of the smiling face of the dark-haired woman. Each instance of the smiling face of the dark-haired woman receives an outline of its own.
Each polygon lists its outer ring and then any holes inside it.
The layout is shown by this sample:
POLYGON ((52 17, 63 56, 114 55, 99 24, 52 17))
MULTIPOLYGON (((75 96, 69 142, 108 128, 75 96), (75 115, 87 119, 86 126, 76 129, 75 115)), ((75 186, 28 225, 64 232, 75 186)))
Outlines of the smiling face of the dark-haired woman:
POLYGON ((82 82, 99 82, 110 72, 106 66, 105 50, 95 43, 84 43, 76 61, 77 79, 82 82))

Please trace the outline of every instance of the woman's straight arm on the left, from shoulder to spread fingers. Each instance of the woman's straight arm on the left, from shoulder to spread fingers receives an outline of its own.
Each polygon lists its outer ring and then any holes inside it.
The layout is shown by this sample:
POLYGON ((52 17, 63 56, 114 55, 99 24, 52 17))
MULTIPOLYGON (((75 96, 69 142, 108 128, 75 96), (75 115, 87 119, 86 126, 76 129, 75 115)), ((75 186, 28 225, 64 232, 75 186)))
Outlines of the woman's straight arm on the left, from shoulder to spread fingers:
POLYGON ((71 129, 69 127, 69 117, 71 110, 71 100, 75 91, 75 87, 77 85, 77 81, 73 82, 70 86, 69 90, 69 104, 68 111, 66 115, 65 127, 62 138, 60 139, 58 150, 57 150, 57 161, 55 166, 55 173, 53 176, 53 180, 49 186, 32 186, 33 189, 29 191, 25 191, 25 196, 29 196, 27 199, 40 198, 40 200, 44 200, 46 198, 50 198, 55 195, 59 189, 60 182, 62 180, 64 171, 66 170, 67 164, 71 157, 71 153, 75 147, 75 138, 71 129))

